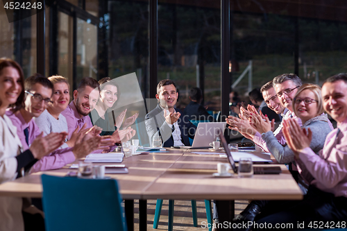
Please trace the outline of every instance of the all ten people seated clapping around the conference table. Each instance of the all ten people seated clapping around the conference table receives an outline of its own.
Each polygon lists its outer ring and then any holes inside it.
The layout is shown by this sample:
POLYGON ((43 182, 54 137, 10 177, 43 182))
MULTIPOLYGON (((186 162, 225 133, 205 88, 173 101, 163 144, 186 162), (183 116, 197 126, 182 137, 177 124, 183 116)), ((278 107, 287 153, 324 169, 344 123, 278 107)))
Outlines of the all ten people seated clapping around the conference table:
MULTIPOLYGON (((227 123, 264 151, 270 151, 278 162, 289 164, 289 170, 307 194, 295 203, 282 201, 274 205, 269 201, 255 201, 235 223, 346 221, 347 75, 328 78, 322 89, 317 85, 302 85, 294 74, 276 76, 267 85, 262 91, 266 104, 278 114, 285 112, 276 131, 272 132, 266 115, 249 105, 242 108, 239 118, 229 117, 227 123), (322 108, 337 121, 336 129, 332 130, 322 108)), ((96 80, 83 78, 74 90, 74 100, 69 103, 66 78, 47 79, 35 74, 24 81, 17 62, 1 58, 0 182, 35 171, 58 169, 89 153, 112 151, 115 144, 131 139, 135 130, 130 125, 137 114, 125 119, 125 113, 121 113, 115 124, 109 125, 111 132, 102 136, 88 116, 99 103, 99 119, 105 120, 102 112, 106 110, 100 108, 112 108, 117 101, 117 90, 112 86, 100 88, 96 80), (126 126, 120 129, 122 123, 126 126)), ((160 81, 155 97, 158 106, 145 118, 149 140, 160 137, 164 147, 189 146, 189 137, 194 138, 196 126, 174 107, 178 99, 174 81, 160 81)), ((1 196, 0 230, 44 230, 42 211, 32 209, 28 202, 1 196)))

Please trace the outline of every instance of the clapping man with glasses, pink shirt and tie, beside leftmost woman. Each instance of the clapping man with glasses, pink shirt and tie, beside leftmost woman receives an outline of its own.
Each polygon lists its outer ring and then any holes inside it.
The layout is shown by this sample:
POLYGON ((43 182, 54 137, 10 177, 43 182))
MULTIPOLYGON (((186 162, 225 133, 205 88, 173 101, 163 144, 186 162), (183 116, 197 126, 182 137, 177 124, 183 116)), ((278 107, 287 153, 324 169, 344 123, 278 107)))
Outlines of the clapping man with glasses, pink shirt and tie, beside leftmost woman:
MULTIPOLYGON (((39 117, 51 102, 53 85, 46 77, 36 74, 26 79, 24 88, 26 90, 24 108, 15 109, 15 113, 10 110, 6 114, 10 117, 13 125, 17 127, 17 135, 24 150, 26 150, 36 137, 42 133, 35 124, 33 117, 39 117)), ((31 162, 31 172, 60 169, 62 166, 85 157, 85 155, 94 151, 100 146, 99 142, 99 137, 83 142, 79 139, 73 148, 58 149, 50 155, 42 157, 41 160, 33 160, 31 162)), ((107 142, 107 145, 109 143, 107 142)))

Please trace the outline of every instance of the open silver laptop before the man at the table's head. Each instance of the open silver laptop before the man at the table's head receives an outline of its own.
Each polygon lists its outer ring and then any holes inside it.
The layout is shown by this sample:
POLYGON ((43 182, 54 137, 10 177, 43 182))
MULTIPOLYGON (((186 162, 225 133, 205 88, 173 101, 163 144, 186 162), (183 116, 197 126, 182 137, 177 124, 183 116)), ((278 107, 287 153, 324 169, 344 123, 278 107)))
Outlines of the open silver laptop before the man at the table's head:
POLYGON ((198 123, 192 146, 174 146, 174 148, 211 148, 210 143, 216 141, 220 133, 223 135, 225 129, 226 122, 198 123))

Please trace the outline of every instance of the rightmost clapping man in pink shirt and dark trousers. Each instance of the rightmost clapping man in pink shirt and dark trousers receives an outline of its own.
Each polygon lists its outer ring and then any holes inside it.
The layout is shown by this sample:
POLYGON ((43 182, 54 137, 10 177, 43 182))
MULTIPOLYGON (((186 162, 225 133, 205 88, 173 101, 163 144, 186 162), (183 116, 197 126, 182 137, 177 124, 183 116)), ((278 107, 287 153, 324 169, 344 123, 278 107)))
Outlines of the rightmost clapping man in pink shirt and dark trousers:
POLYGON ((338 74, 325 80, 322 97, 323 108, 337 121, 337 128, 328 134, 319 155, 310 148, 314 135, 310 130, 301 130, 291 119, 283 129, 287 144, 295 151, 298 170, 310 183, 307 195, 280 212, 262 212, 256 217, 256 223, 302 223, 300 228, 319 228, 323 224, 324 228, 346 228, 347 75, 338 74))

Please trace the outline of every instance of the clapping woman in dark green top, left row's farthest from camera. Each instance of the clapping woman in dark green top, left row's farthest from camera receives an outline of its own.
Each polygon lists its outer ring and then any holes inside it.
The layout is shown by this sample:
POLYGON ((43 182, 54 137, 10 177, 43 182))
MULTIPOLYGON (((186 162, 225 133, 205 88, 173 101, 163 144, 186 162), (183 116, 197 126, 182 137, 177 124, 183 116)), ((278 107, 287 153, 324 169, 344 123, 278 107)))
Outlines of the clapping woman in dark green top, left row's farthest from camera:
MULTIPOLYGON (((99 84, 101 89, 100 98, 94 110, 90 112, 90 119, 94 125, 103 128, 100 135, 112 135, 117 128, 127 128, 133 124, 139 114, 135 113, 124 121, 124 117, 126 116, 126 110, 124 110, 115 118, 112 108, 115 107, 115 103, 119 99, 119 87, 109 77, 101 78, 99 84)), ((130 128, 128 130, 130 130, 130 128)), ((135 135, 135 130, 132 132, 132 136, 133 135, 135 135)), ((122 135, 119 134, 119 136, 122 135)))

